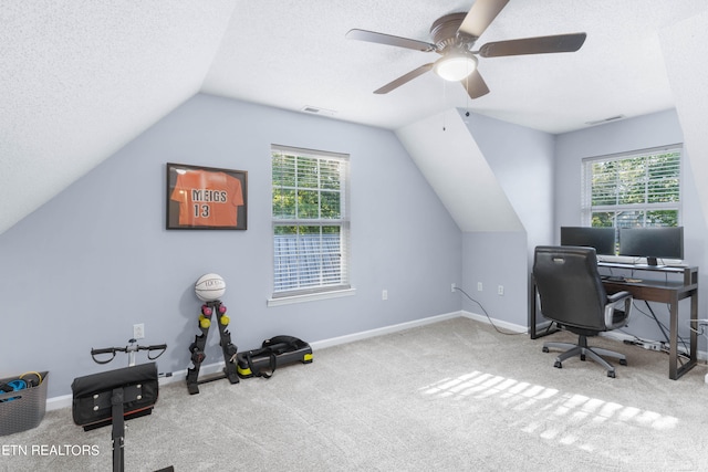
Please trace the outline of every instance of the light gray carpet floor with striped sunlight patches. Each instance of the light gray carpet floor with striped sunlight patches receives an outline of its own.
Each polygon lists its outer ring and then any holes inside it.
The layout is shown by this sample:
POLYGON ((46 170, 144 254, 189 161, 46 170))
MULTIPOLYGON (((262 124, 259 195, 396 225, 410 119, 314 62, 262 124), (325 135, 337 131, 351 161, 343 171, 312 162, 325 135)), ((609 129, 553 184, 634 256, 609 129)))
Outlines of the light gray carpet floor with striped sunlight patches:
MULTIPOLYGON (((612 379, 590 360, 553 368, 543 340, 455 318, 315 350, 270 380, 170 384, 127 423, 126 471, 708 470, 705 366, 669 380, 666 355, 596 339, 627 355, 612 379)), ((110 436, 49 411, 0 444, 98 454, 2 454, 0 470, 110 471, 110 436)))

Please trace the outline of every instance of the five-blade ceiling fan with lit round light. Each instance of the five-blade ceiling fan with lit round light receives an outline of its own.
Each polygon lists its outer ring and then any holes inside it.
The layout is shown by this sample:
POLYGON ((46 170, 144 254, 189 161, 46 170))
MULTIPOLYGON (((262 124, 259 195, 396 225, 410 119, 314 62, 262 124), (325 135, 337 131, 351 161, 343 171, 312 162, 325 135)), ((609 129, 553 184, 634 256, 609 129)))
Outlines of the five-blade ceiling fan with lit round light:
POLYGON ((489 87, 477 71, 477 55, 501 57, 575 52, 585 42, 585 33, 571 33, 490 42, 473 51, 475 42, 508 2, 509 0, 476 0, 467 13, 450 13, 438 18, 430 27, 431 43, 357 29, 350 30, 346 38, 441 55, 437 61, 414 69, 374 91, 375 94, 386 94, 433 70, 447 81, 460 82, 470 98, 478 98, 488 94, 489 87))

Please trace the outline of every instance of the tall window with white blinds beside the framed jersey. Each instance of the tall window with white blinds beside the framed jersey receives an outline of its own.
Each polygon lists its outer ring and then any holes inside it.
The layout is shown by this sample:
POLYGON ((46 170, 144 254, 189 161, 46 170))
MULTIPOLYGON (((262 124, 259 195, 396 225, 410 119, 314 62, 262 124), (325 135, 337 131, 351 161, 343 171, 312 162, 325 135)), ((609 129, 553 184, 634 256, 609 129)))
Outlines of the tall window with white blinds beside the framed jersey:
POLYGON ((348 156, 272 146, 273 298, 350 289, 348 156))

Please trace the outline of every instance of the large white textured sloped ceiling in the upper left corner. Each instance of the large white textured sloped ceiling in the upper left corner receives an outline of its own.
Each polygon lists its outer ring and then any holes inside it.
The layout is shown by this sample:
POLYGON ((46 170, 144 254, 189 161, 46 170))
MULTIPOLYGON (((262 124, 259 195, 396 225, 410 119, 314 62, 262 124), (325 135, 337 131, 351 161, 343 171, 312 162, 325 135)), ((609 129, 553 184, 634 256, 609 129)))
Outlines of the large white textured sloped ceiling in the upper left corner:
POLYGON ((0 232, 199 92, 230 0, 0 1, 0 232))

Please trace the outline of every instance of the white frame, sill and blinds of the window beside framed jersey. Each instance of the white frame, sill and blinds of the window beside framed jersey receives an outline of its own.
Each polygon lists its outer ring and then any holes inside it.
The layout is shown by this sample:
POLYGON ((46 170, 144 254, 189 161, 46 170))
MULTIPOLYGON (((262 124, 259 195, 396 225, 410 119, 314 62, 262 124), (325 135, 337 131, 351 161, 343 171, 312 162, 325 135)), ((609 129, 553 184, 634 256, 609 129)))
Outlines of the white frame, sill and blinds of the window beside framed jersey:
MULTIPOLYGON (((283 207, 294 210, 295 214, 279 214, 280 211, 274 208, 275 203, 271 204, 272 211, 272 241, 273 241, 273 264, 272 264, 272 296, 268 301, 268 306, 277 306, 282 304, 306 302, 312 300, 324 300, 340 296, 347 296, 354 294, 350 283, 350 212, 348 212, 348 155, 339 153, 329 153, 313 149, 302 149, 290 146, 272 145, 271 146, 271 171, 272 189, 271 196, 273 200, 279 192, 294 192, 299 195, 300 191, 317 193, 317 216, 303 217, 300 214, 299 199, 295 199, 294 209, 292 207, 283 207), (275 156, 289 156, 294 157, 293 168, 285 166, 285 171, 292 171, 293 181, 285 182, 287 179, 278 180, 274 175, 277 169, 274 168, 275 156), (301 183, 299 181, 299 174, 296 171, 298 159, 308 159, 312 161, 315 159, 317 162, 316 172, 316 186, 301 183), (339 190, 332 190, 323 185, 324 174, 320 171, 320 166, 324 165, 330 168, 334 167, 339 172, 339 190), (290 185, 288 185, 290 183, 290 185), (336 217, 323 218, 322 217, 322 193, 329 192, 339 193, 339 214, 336 217), (296 228, 296 231, 291 237, 280 237, 277 234, 277 228, 290 227, 296 228), (301 227, 320 227, 319 233, 300 233, 301 227), (323 232, 323 228, 339 227, 339 254, 332 252, 332 239, 327 238, 327 233, 323 232), (283 240, 292 241, 283 241, 283 240), (330 244, 325 244, 325 240, 329 240, 330 244), (298 258, 293 258, 292 254, 283 253, 283 243, 292 244, 294 254, 298 258), (302 252, 302 254, 300 253, 302 252), (291 255, 288 258, 288 255, 291 255), (339 256, 337 263, 334 262, 330 265, 326 264, 329 258, 330 261, 333 256, 339 256), (308 259, 309 258, 309 259, 308 259), (311 261, 316 262, 311 262, 311 261), (303 262, 310 261, 310 262, 303 262), (339 270, 337 270, 339 269, 339 270), (294 274, 294 275, 293 275, 294 274), (302 282, 304 281, 304 282, 302 282)), ((310 176, 311 177, 311 176, 310 176)), ((304 213, 304 210, 303 210, 304 213)))

